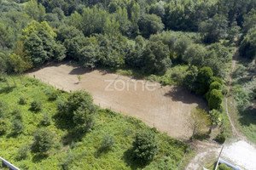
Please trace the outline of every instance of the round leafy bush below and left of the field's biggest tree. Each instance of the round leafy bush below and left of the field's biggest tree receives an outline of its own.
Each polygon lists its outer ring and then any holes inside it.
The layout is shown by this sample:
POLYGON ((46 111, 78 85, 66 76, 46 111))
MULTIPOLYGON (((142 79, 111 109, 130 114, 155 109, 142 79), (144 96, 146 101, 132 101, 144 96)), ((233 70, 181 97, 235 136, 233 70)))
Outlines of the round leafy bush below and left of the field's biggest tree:
POLYGON ((32 143, 32 152, 46 152, 48 151, 53 145, 53 138, 54 135, 49 131, 47 128, 37 129, 33 133, 33 143, 32 143))

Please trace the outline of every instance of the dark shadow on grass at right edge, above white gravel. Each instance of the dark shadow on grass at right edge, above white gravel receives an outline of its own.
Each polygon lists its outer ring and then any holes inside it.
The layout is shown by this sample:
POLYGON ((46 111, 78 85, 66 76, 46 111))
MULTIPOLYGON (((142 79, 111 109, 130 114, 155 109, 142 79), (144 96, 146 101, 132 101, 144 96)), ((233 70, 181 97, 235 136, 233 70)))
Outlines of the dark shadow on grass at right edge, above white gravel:
POLYGON ((249 127, 251 124, 256 125, 256 108, 253 106, 247 107, 243 111, 239 111, 240 117, 238 121, 242 126, 249 127))

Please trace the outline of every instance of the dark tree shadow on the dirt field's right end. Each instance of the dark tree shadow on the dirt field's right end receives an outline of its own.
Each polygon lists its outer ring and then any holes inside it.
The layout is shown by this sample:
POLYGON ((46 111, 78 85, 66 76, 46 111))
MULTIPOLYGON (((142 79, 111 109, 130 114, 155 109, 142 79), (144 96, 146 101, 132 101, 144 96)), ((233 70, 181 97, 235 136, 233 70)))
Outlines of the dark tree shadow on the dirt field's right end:
POLYGON ((165 94, 166 97, 172 98, 172 101, 181 101, 184 104, 198 104, 200 108, 207 108, 207 101, 202 96, 192 94, 185 88, 172 88, 165 94))

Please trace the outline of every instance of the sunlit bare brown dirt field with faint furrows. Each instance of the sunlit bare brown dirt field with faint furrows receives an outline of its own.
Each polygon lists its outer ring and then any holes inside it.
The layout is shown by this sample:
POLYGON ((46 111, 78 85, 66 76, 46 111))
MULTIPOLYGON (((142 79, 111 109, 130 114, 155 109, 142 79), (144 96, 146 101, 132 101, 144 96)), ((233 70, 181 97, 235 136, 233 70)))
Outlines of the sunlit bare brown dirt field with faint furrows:
POLYGON ((186 123, 190 111, 196 106, 207 108, 204 99, 183 88, 161 87, 156 82, 134 80, 106 71, 87 71, 70 63, 45 65, 26 75, 66 91, 84 89, 92 94, 96 105, 135 116, 177 139, 191 136, 186 123))

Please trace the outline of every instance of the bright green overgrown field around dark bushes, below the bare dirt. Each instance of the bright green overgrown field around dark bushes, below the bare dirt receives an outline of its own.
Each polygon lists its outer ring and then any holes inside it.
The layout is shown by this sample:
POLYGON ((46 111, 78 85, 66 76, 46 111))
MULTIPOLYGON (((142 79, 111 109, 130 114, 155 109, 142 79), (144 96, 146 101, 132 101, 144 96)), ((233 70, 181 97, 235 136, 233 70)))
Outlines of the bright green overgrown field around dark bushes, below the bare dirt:
POLYGON ((20 84, 19 77, 9 77, 9 83, 13 88, 7 88, 5 82, 0 82, 0 100, 6 106, 4 121, 8 127, 0 136, 0 156, 20 169, 176 169, 188 146, 166 133, 151 129, 136 118, 103 109, 98 112, 90 132, 79 141, 65 144, 64 137, 68 132, 55 124, 53 117, 57 112, 57 102, 49 99, 49 91, 58 95, 67 93, 29 77, 23 77, 24 85, 20 84), (17 87, 14 87, 13 78, 17 87), (35 100, 41 102, 41 111, 31 109, 35 100), (16 110, 20 111, 20 120, 25 127, 22 133, 14 135, 11 122, 18 115, 16 110), (42 124, 45 116, 49 116, 46 121, 49 123, 42 124), (54 134, 54 145, 44 155, 32 153, 32 133, 43 126, 54 134), (143 167, 131 159, 134 136, 141 129, 155 131, 159 144, 154 160, 143 167), (112 136, 115 142, 110 150, 101 151, 102 139, 106 135, 112 136))

